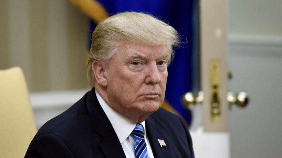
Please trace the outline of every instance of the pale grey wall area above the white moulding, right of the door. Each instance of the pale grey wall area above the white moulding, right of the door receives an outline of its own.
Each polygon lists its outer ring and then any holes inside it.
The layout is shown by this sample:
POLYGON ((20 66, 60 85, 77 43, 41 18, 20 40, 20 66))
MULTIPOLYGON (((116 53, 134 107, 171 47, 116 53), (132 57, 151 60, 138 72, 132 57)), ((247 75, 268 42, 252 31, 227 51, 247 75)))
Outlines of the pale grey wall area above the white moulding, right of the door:
POLYGON ((282 36, 281 0, 229 0, 229 32, 282 36))

